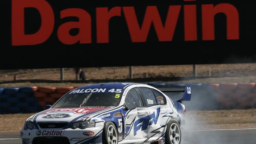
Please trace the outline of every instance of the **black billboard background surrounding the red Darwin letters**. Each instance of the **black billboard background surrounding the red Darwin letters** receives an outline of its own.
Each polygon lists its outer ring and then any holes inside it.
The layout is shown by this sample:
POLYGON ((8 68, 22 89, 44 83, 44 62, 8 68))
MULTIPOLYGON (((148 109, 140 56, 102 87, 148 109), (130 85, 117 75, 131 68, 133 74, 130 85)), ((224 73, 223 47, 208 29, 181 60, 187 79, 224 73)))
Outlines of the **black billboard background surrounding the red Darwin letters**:
MULTIPOLYGON (((1 56, 0 69, 60 68, 130 65, 179 65, 211 63, 255 63, 256 9, 255 0, 47 0, 55 15, 55 27, 50 38, 38 45, 11 46, 11 0, 1 1, 1 56), (239 40, 226 40, 226 17, 215 17, 215 41, 202 41, 201 4, 229 3, 239 12, 239 40), (134 6, 139 24, 142 23, 146 6, 157 6, 163 23, 169 5, 197 5, 198 41, 184 41, 183 7, 174 31, 173 41, 159 42, 151 25, 147 42, 131 42, 126 20, 113 17, 109 22, 109 43, 96 43, 96 7, 134 6), (67 8, 82 8, 92 18, 92 44, 65 45, 58 40, 58 27, 76 18, 60 19, 60 11, 67 8)), ((41 19, 37 10, 25 10, 25 33, 35 33, 41 19)), ((77 30, 72 30, 76 34, 77 30)))

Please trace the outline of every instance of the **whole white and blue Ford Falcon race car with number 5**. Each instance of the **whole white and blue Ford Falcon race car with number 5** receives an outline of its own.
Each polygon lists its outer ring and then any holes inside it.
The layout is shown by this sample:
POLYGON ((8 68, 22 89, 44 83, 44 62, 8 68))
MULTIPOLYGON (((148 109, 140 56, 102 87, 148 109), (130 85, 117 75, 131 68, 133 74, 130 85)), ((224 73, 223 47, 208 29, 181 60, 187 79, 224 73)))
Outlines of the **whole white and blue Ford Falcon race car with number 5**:
POLYGON ((30 116, 20 132, 23 144, 180 144, 181 102, 159 88, 137 83, 103 83, 71 90, 45 111, 30 116))

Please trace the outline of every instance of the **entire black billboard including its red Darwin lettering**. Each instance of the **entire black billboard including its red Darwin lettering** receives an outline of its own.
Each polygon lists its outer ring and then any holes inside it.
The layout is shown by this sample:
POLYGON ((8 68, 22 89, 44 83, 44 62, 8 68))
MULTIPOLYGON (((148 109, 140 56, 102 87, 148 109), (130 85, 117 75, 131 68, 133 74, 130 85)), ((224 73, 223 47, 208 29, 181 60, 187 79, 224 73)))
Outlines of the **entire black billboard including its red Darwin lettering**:
POLYGON ((1 69, 252 63, 255 0, 2 0, 1 69))

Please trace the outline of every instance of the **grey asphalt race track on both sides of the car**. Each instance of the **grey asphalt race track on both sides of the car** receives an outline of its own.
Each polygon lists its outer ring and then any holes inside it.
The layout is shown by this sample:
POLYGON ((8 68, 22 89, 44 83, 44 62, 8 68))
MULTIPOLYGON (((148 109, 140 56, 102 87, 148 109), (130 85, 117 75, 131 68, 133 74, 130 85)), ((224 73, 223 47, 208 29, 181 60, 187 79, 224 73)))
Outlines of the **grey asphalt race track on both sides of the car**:
MULTIPOLYGON (((0 144, 21 143, 19 133, 0 133, 0 144)), ((256 144, 256 129, 184 131, 182 144, 256 144)))

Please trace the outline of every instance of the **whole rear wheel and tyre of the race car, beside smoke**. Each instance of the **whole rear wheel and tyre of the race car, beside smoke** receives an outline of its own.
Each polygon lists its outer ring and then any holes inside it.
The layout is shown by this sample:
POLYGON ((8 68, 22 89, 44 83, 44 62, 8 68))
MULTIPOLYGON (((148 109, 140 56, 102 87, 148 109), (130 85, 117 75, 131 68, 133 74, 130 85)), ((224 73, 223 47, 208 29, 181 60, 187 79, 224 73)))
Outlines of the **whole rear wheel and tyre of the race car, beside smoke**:
POLYGON ((167 124, 165 132, 165 143, 166 144, 180 144, 181 142, 181 131, 180 125, 176 120, 171 120, 167 124))

